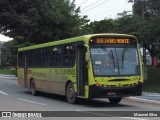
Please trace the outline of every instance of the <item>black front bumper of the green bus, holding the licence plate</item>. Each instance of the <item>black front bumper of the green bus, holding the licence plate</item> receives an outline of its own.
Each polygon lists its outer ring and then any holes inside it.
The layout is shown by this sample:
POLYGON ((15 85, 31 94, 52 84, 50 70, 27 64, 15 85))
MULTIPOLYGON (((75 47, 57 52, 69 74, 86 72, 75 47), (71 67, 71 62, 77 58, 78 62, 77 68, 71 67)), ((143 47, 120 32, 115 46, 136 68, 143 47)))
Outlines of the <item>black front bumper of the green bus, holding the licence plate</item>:
POLYGON ((101 87, 96 85, 89 86, 89 98, 110 98, 110 97, 128 97, 142 95, 143 83, 128 87, 101 87))

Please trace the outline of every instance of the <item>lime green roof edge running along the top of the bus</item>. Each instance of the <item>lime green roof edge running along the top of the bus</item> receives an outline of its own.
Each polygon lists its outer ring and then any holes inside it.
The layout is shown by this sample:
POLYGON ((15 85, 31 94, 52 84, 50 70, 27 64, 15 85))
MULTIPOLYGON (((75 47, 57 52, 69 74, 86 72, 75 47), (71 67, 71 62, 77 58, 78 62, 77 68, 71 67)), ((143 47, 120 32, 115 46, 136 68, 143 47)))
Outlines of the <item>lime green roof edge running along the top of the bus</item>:
POLYGON ((93 37, 93 36, 134 37, 134 36, 128 35, 128 34, 117 34, 117 33, 90 34, 90 35, 83 35, 83 36, 79 36, 79 37, 68 38, 68 39, 57 40, 57 41, 53 41, 53 42, 48 42, 48 43, 43 43, 43 44, 38 44, 38 45, 33 45, 33 46, 28 46, 28 47, 23 47, 23 48, 19 48, 18 51, 26 51, 26 50, 31 50, 31 49, 38 49, 38 48, 49 47, 49 46, 53 46, 53 45, 60 45, 60 44, 71 43, 71 42, 78 42, 78 41, 86 41, 86 40, 89 41, 89 39, 91 37, 93 37))

